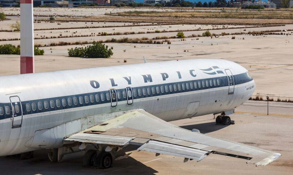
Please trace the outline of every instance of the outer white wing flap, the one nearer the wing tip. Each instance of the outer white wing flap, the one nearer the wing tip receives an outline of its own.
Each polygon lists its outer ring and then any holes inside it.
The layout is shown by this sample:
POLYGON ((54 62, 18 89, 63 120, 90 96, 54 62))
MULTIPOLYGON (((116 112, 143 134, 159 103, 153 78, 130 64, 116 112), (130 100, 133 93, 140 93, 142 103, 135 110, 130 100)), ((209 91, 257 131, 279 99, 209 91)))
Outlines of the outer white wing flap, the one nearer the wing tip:
POLYGON ((209 152, 197 150, 194 148, 188 148, 180 145, 174 145, 171 143, 164 143, 160 141, 148 141, 144 143, 138 150, 149 151, 159 154, 174 155, 178 157, 184 157, 189 159, 196 159, 197 162, 207 157, 209 152))

